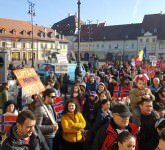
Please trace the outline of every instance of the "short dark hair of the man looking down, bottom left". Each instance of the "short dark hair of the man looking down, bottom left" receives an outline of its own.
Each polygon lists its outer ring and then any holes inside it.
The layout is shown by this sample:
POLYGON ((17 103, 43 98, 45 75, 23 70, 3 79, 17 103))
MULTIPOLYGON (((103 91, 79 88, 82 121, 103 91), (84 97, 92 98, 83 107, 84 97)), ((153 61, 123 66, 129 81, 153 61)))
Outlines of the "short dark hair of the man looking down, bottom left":
POLYGON ((36 120, 36 117, 35 117, 35 115, 33 114, 32 111, 24 110, 24 111, 22 111, 21 113, 18 114, 16 122, 22 125, 27 118, 29 118, 31 120, 36 120))

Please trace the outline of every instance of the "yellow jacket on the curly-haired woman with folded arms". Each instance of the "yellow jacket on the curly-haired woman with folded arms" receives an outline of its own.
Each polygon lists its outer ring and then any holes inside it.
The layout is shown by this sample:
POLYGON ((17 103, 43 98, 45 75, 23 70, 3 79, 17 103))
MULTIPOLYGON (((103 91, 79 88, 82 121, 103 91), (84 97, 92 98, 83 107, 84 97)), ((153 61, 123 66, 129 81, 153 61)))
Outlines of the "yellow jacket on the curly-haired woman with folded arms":
POLYGON ((62 115, 62 137, 68 142, 78 142, 82 139, 81 130, 85 128, 86 122, 80 112, 76 114, 67 112, 62 115))

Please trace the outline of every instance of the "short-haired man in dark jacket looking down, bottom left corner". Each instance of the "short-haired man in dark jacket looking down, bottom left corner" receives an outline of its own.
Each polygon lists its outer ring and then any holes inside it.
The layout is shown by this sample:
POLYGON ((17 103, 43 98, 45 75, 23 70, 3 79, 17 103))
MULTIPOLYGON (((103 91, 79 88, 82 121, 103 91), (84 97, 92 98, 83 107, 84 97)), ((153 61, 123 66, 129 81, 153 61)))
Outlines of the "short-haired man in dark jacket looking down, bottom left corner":
POLYGON ((35 115, 30 110, 19 113, 1 150, 49 150, 45 138, 36 126, 35 115))

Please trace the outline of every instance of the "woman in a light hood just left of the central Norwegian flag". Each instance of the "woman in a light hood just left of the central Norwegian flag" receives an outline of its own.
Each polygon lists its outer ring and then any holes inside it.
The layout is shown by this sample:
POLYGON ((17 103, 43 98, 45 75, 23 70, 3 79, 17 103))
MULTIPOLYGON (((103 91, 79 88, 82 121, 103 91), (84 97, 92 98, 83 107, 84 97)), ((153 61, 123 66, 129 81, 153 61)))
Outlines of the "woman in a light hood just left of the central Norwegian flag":
POLYGON ((105 84, 104 84, 103 82, 100 82, 100 83, 98 84, 97 95, 100 97, 100 94, 101 94, 102 92, 104 92, 104 93, 106 94, 106 97, 107 97, 108 100, 111 100, 111 99, 112 99, 112 98, 111 98, 111 94, 110 94, 110 92, 107 90, 105 84))

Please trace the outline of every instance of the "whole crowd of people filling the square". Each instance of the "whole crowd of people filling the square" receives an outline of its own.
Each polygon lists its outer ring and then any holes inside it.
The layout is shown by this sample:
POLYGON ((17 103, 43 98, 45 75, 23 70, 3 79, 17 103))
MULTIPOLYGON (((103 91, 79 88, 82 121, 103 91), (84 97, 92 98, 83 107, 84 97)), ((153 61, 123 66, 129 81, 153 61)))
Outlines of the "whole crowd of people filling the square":
POLYGON ((10 100, 8 84, 0 89, 3 115, 16 115, 4 136, 2 150, 163 150, 165 145, 165 74, 149 77, 130 64, 105 64, 69 75, 53 71, 45 91, 28 97, 18 85, 10 100), (71 90, 69 90, 71 87, 71 90), (60 119, 54 108, 63 99, 60 119), (29 100, 30 99, 30 100, 29 100), (42 101, 42 102, 41 102, 42 101))

